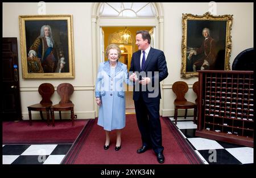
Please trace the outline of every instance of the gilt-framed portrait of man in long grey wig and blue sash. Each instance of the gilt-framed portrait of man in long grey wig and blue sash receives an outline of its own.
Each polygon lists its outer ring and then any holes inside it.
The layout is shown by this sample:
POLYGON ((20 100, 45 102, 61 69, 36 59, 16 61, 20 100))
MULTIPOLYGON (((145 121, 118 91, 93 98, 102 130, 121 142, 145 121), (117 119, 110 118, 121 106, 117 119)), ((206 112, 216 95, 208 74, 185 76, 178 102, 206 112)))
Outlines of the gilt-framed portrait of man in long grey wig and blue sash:
POLYGON ((22 77, 75 78, 72 15, 20 15, 22 77))

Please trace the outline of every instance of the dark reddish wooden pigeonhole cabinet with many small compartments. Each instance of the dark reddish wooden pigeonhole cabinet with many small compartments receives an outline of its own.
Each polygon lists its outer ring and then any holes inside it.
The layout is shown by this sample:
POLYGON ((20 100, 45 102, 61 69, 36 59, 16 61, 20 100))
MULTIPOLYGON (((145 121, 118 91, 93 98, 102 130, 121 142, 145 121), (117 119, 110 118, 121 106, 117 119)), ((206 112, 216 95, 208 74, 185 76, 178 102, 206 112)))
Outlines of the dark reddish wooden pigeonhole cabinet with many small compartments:
POLYGON ((199 71, 196 136, 253 147, 253 71, 199 71))

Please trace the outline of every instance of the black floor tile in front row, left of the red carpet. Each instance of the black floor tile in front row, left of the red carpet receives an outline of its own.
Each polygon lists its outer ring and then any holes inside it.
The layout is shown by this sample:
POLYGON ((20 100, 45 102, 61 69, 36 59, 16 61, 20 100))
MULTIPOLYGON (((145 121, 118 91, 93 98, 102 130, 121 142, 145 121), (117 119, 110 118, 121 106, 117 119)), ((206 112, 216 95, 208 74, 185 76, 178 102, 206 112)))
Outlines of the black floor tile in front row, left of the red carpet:
POLYGON ((49 155, 20 155, 11 164, 43 164, 49 155))

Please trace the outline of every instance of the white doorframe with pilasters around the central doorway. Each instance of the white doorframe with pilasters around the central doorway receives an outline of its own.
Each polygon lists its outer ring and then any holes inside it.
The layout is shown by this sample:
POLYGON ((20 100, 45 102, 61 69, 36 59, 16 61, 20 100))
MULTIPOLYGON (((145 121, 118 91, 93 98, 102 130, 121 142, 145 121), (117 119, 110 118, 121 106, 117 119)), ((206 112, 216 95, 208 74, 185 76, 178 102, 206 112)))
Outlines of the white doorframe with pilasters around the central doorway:
MULTIPOLYGON (((99 16, 100 7, 102 3, 93 3, 92 5, 92 62, 93 62, 93 83, 94 83, 94 91, 95 91, 95 83, 97 78, 97 69, 98 65, 101 62, 101 46, 100 46, 100 28, 101 27, 115 27, 115 26, 123 26, 123 27, 155 27, 155 48, 164 50, 164 15, 163 15, 163 5, 162 3, 151 3, 156 12, 155 18, 102 18, 99 16), (129 24, 129 25, 128 25, 129 24)), ((163 89, 162 84, 160 84, 162 98, 163 97, 163 89)), ((98 116, 98 109, 96 102, 94 103, 94 111, 96 117, 98 116)), ((160 115, 162 116, 162 108, 163 108, 163 100, 160 100, 160 115)))

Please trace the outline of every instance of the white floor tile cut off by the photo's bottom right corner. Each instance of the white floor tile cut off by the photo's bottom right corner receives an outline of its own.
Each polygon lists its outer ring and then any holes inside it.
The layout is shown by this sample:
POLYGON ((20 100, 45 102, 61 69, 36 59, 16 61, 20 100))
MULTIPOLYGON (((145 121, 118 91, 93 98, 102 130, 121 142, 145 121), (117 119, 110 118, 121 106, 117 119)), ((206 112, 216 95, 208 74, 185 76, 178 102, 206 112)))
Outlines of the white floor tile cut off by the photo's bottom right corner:
POLYGON ((253 163, 253 148, 251 147, 239 147, 226 150, 236 157, 242 164, 253 163))

